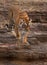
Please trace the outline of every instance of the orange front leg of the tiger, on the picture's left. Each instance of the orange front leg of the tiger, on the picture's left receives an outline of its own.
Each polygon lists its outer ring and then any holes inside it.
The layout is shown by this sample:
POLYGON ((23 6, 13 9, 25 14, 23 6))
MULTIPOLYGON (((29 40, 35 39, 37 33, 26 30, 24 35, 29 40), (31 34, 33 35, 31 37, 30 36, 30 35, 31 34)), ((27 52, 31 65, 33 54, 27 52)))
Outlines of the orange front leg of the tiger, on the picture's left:
POLYGON ((17 18, 15 18, 14 20, 14 31, 15 31, 15 36, 17 39, 21 39, 21 34, 20 34, 20 31, 19 31, 19 15, 17 16, 17 18))

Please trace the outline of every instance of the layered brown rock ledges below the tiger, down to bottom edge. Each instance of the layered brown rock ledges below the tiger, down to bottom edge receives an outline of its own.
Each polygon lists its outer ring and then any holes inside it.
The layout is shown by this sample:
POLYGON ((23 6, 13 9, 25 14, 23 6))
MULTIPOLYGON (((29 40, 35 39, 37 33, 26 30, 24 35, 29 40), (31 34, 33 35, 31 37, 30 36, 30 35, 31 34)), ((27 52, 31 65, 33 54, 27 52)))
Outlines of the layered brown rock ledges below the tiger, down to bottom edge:
POLYGON ((11 32, 8 33, 7 31, 4 31, 5 30, 0 30, 0 57, 5 57, 6 59, 1 61, 1 64, 4 62, 4 64, 14 65, 25 65, 27 63, 28 65, 36 63, 38 65, 43 65, 43 63, 44 65, 47 65, 46 23, 32 23, 30 25, 30 33, 28 35, 30 48, 23 46, 23 43, 20 40, 17 40, 11 32))

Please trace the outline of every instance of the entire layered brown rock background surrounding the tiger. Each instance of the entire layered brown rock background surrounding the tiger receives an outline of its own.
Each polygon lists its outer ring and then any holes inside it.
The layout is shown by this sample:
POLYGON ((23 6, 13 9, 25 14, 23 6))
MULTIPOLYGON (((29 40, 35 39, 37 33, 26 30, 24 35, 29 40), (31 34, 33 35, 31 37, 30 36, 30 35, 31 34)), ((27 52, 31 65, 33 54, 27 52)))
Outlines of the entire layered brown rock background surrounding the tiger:
POLYGON ((19 5, 32 19, 29 46, 6 28, 0 29, 0 65, 47 65, 47 0, 0 0, 0 26, 7 21, 5 7, 10 5, 19 5))

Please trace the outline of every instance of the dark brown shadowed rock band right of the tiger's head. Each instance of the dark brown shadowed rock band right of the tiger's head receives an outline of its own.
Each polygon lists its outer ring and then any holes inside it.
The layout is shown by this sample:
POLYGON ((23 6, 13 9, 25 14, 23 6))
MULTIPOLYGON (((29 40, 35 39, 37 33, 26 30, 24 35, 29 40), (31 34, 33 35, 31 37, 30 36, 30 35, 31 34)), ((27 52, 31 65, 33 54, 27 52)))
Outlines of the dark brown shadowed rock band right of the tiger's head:
POLYGON ((38 12, 38 11, 33 11, 33 12, 28 12, 29 17, 32 19, 32 22, 40 22, 40 23, 46 23, 47 22, 47 12, 38 12))

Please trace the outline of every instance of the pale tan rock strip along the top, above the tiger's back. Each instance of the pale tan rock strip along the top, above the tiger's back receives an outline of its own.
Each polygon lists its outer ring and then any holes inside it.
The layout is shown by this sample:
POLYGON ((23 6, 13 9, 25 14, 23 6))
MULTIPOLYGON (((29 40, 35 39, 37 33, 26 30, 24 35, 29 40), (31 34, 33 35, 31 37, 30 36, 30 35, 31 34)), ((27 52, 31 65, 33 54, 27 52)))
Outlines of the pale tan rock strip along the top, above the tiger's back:
POLYGON ((9 5, 19 5, 23 10, 27 11, 47 11, 46 0, 0 0, 2 8, 9 5))

